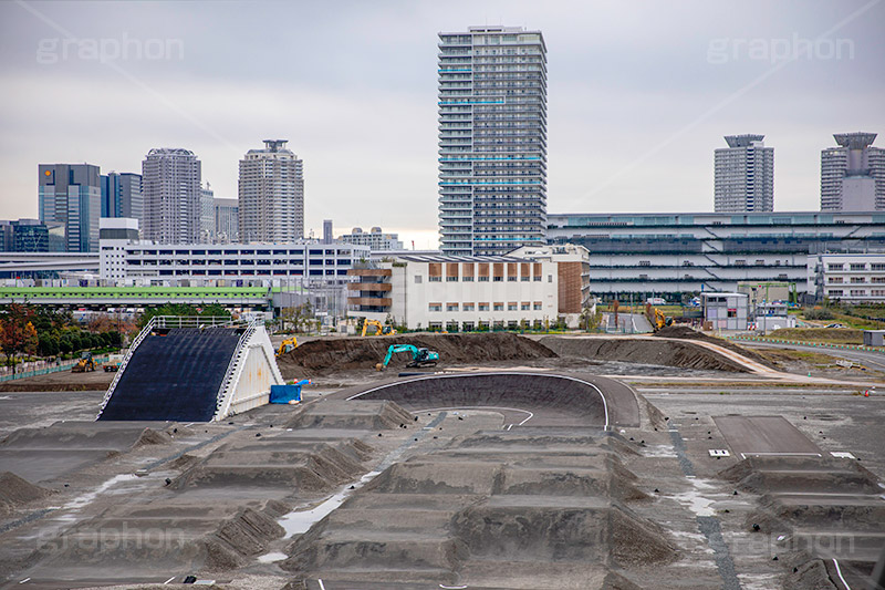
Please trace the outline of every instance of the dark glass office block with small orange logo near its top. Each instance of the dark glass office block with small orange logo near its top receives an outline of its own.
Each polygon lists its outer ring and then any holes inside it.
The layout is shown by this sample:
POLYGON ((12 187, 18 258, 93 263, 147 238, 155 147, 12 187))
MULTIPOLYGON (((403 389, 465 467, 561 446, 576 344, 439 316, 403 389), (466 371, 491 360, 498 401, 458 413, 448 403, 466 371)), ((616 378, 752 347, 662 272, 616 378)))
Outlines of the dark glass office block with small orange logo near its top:
POLYGON ((64 226, 69 252, 98 251, 102 185, 98 166, 40 164, 40 220, 64 226))

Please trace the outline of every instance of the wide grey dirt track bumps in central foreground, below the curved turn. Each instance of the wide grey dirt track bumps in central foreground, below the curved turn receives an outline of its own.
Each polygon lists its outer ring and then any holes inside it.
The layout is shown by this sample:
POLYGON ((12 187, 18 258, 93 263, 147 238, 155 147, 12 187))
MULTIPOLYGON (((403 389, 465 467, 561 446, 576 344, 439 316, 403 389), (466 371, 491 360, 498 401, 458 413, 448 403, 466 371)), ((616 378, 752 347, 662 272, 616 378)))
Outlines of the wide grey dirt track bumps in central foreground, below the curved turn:
POLYGON ((610 568, 678 557, 628 507, 645 498, 635 480, 597 437, 480 432, 387 468, 293 540, 281 567, 342 581, 633 589, 610 568))

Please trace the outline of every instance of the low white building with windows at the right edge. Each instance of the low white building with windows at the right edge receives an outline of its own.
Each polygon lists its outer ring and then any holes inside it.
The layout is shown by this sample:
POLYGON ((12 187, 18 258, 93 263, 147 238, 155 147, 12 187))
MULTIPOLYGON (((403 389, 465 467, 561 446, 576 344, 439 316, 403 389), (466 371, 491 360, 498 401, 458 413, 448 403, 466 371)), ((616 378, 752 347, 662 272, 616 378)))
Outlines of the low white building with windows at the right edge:
POLYGON ((885 251, 809 256, 808 290, 818 301, 885 302, 885 251))

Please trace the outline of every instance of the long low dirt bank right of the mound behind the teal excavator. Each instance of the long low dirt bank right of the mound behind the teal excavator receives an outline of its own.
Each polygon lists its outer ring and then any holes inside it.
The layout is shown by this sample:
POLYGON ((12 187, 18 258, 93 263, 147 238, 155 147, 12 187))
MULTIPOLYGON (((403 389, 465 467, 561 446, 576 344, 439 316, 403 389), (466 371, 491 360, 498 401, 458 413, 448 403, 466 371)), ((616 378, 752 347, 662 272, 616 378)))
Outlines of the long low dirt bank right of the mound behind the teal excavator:
POLYGON ((562 358, 658 364, 702 371, 743 373, 747 369, 691 342, 648 339, 544 337, 541 344, 562 358))

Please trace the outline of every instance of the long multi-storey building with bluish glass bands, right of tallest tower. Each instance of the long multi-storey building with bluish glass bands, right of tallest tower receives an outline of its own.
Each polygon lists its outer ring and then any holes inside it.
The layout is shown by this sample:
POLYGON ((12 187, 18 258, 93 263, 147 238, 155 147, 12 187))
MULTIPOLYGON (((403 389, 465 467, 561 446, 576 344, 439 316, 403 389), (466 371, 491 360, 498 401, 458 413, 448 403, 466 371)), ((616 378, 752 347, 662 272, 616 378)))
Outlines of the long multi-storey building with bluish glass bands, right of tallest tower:
POLYGON ((877 213, 554 214, 548 238, 590 251, 596 296, 678 298, 779 281, 806 291, 816 249, 885 247, 877 213), (814 250, 813 250, 814 249, 814 250))

